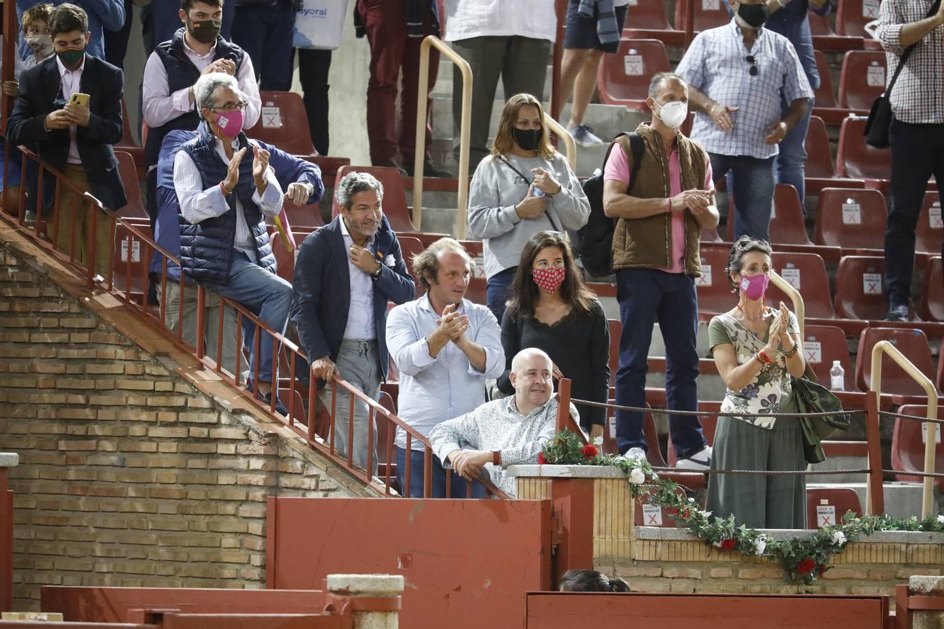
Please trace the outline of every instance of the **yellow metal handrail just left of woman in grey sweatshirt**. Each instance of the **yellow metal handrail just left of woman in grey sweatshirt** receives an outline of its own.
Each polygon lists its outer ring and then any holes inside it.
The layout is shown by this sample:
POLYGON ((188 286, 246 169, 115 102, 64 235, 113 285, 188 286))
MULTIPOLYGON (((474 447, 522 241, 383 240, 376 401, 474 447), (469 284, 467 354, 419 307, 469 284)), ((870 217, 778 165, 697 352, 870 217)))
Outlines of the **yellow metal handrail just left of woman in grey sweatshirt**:
MULTIPOLYGON (((416 155, 413 157, 413 225, 423 226, 423 164, 426 159, 426 101, 430 85, 430 47, 449 58, 463 77, 463 108, 459 123, 459 184, 456 199, 456 235, 465 238, 465 210, 469 195, 469 137, 472 128, 472 68, 468 61, 435 35, 428 35, 419 49, 419 87, 416 94, 416 155)), ((453 73, 452 80, 455 80, 453 73)))

